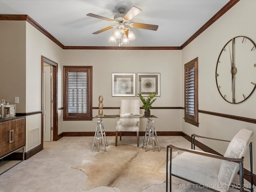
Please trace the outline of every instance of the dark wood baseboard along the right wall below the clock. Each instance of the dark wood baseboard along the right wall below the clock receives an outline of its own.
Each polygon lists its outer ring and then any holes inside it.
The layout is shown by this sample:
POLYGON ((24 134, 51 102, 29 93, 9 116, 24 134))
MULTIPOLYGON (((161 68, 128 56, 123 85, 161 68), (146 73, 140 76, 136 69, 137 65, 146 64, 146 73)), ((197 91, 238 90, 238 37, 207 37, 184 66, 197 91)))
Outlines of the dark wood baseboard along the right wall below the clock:
MULTIPOLYGON (((182 132, 182 136, 183 136, 186 140, 188 140, 188 141, 191 142, 191 136, 187 135, 187 134, 184 133, 184 132, 182 132)), ((202 144, 201 142, 199 142, 199 141, 197 141, 197 140, 195 141, 195 144, 196 144, 197 147, 199 147, 200 149, 204 150, 205 152, 209 152, 209 153, 213 153, 213 154, 216 154, 216 155, 223 156, 222 154, 216 152, 215 150, 211 149, 210 147, 206 146, 205 144, 202 144)), ((247 169, 244 168, 244 174, 250 174, 250 171, 248 171, 247 169)), ((251 182, 251 181, 250 181, 250 179, 251 179, 250 176, 244 175, 244 178, 245 178, 247 181, 251 182)), ((254 186, 256 186, 256 175, 255 175, 255 174, 253 174, 253 183, 254 183, 254 186)))

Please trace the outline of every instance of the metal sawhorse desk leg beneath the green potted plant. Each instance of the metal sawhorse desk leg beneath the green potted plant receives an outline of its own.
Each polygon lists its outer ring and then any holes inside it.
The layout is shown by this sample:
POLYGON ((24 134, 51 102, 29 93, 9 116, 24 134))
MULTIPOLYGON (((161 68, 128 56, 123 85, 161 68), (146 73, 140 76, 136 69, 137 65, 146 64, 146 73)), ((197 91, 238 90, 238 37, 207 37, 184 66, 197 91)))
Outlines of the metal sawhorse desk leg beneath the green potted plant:
MULTIPOLYGON (((158 138, 157 138, 157 134, 156 134, 156 128, 154 126, 154 122, 155 122, 154 118, 148 118, 147 127, 146 127, 146 133, 145 133, 145 137, 146 137, 146 134, 147 134, 147 131, 148 131, 148 141, 147 141, 147 145, 146 145, 145 151, 147 151, 150 138, 152 139, 152 150, 154 151, 154 144, 156 142, 157 147, 158 147, 158 151, 160 151, 160 148, 159 148, 159 145, 158 145, 158 138)), ((144 140, 145 140, 145 137, 144 137, 144 140)), ((143 142, 143 144, 144 144, 144 142, 143 142)))

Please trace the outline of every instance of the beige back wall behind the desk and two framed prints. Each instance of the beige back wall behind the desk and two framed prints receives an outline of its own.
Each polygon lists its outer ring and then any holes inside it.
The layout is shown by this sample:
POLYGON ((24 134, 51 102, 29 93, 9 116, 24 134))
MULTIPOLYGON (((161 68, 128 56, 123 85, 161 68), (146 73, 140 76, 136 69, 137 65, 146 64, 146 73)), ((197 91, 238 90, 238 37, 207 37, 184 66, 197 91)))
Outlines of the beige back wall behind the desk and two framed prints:
MULTIPOLYGON (((181 50, 64 50, 64 66, 92 66, 92 106, 98 106, 98 96, 104 97, 104 107, 119 107, 120 99, 135 97, 112 97, 112 73, 160 73, 160 97, 153 106, 180 107, 182 105, 181 50)), ((137 79, 137 78, 136 78, 137 79)), ((137 88, 137 86, 136 86, 137 88)), ((136 90, 137 92, 137 90, 136 90)), ((93 110, 95 116, 98 110, 93 110)), ((141 113, 144 113, 141 110, 141 113)), ((182 110, 152 109, 158 131, 182 131, 182 110), (177 121, 178 119, 178 121, 177 121)), ((119 114, 119 110, 104 110, 104 114, 119 114)), ((117 119, 104 120, 106 131, 115 131, 117 119)), ((140 131, 146 127, 141 120, 140 131)), ((95 131, 93 121, 64 121, 64 132, 95 131)))

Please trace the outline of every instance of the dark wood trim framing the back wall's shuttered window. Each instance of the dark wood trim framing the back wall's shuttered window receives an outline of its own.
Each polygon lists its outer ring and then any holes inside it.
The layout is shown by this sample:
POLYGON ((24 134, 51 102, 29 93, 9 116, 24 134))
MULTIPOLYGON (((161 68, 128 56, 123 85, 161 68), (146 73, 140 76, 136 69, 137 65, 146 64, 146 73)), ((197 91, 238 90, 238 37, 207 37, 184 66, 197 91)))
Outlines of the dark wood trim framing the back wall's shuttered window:
POLYGON ((63 120, 92 120, 92 66, 63 66, 63 120), (68 112, 68 72, 86 72, 86 112, 68 112))

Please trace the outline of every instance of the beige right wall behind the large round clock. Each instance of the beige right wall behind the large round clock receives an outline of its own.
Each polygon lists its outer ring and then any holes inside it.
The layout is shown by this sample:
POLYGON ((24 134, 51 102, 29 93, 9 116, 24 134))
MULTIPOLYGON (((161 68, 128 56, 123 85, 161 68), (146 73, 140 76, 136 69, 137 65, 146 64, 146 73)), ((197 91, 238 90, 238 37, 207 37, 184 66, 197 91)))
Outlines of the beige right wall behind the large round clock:
MULTIPOLYGON (((198 57, 199 110, 255 119, 256 92, 241 104, 230 104, 220 96, 215 81, 216 62, 220 50, 228 40, 236 36, 248 36, 256 42, 256 25, 254 25, 255 7, 256 1, 243 0, 238 2, 231 10, 226 12, 226 14, 182 50, 182 76, 184 73, 184 64, 198 57)), ((256 68, 252 67, 252 70, 255 70, 256 74, 256 68)), ((182 81, 184 82, 183 78, 182 81)), ((252 81, 255 82, 256 78, 252 79, 252 81)), ((250 86, 251 88, 250 83, 245 86, 250 86)), ((182 103, 182 106, 184 106, 184 101, 182 103)), ((255 143, 256 126, 252 123, 202 113, 199 114, 199 127, 182 121, 182 131, 188 135, 195 133, 225 140, 231 140, 242 128, 254 132, 252 142, 255 143)), ((216 144, 216 142, 208 142, 207 140, 201 141, 222 154, 226 150, 226 143, 218 142, 216 144)), ((256 148, 254 147, 253 153, 255 154, 255 152, 256 148)), ((254 159, 254 165, 255 162, 256 160, 254 159)), ((248 158, 246 159, 245 167, 247 169, 249 168, 248 158)))

